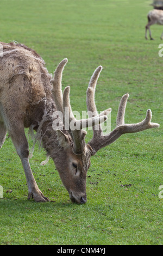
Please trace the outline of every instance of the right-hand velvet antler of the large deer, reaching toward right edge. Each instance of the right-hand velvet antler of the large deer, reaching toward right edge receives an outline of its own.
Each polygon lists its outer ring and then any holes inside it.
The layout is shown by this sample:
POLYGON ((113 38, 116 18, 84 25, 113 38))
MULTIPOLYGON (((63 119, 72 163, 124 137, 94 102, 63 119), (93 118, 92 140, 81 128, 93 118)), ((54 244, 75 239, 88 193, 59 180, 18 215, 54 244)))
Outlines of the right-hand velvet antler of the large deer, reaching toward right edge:
MULTIPOLYGON (((93 73, 89 87, 87 89, 87 109, 89 113, 93 112, 97 114, 96 104, 95 104, 95 88, 96 83, 99 77, 99 74, 102 70, 102 66, 99 66, 95 72, 93 73), (91 99, 91 100, 90 100, 91 99)), ((93 127, 93 138, 88 143, 92 148, 92 155, 96 154, 96 152, 116 141, 118 137, 120 137, 124 133, 133 133, 139 132, 146 129, 159 127, 159 124, 151 123, 152 112, 151 109, 147 110, 146 118, 137 124, 125 124, 124 123, 124 114, 126 110, 126 104, 129 94, 124 94, 120 106, 118 108, 117 119, 116 119, 116 128, 109 133, 109 135, 103 136, 101 126, 98 126, 98 129, 95 130, 95 126, 93 127)))

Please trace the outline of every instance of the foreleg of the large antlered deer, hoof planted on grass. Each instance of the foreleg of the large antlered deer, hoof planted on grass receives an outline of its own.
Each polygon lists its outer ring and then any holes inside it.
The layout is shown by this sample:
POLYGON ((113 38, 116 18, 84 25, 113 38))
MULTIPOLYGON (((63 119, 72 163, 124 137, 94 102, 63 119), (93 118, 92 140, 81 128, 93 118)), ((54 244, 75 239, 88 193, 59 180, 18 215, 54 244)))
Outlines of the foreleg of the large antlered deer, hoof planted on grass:
POLYGON ((29 159, 28 159, 29 149, 28 149, 27 138, 24 133, 24 128, 22 127, 22 129, 18 129, 18 127, 20 126, 17 126, 17 130, 14 129, 15 131, 14 130, 9 131, 9 135, 12 139, 12 142, 14 143, 17 154, 22 161, 22 166, 26 174, 28 192, 29 192, 28 199, 30 199, 30 197, 33 197, 36 202, 49 201, 48 198, 43 196, 42 192, 39 190, 39 187, 36 184, 34 175, 32 173, 32 170, 29 164, 29 159))

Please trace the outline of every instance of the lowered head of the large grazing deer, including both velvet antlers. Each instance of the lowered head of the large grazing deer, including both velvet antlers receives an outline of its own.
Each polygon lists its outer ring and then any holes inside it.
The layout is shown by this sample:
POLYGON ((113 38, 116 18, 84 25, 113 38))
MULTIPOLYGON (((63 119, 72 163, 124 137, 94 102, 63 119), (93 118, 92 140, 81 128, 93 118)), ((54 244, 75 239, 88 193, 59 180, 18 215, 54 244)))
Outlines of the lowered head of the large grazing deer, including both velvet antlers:
POLYGON ((125 124, 124 114, 129 94, 123 95, 118 108, 116 128, 108 135, 103 135, 101 123, 107 119, 111 108, 98 114, 95 104, 95 89, 102 66, 99 66, 93 73, 86 92, 86 105, 88 119, 77 120, 70 105, 70 87, 66 87, 64 92, 61 90, 61 78, 67 59, 60 62, 54 72, 53 95, 58 111, 62 114, 64 128, 57 129, 59 147, 62 149, 62 157, 55 161, 60 178, 65 185, 72 202, 86 203, 86 173, 90 167, 90 158, 96 152, 116 141, 124 133, 139 132, 146 129, 159 127, 159 124, 151 123, 152 112, 147 110, 146 118, 137 124, 125 124), (68 115, 66 115, 68 112, 68 115), (67 118, 68 117, 68 118, 67 118), (73 124, 73 125, 72 125, 73 124), (89 143, 85 143, 86 127, 93 127, 93 137, 89 143), (65 127, 68 127, 65 131, 65 127), (77 127, 74 129, 74 127, 77 127), (61 167, 62 166, 62 167, 61 167))

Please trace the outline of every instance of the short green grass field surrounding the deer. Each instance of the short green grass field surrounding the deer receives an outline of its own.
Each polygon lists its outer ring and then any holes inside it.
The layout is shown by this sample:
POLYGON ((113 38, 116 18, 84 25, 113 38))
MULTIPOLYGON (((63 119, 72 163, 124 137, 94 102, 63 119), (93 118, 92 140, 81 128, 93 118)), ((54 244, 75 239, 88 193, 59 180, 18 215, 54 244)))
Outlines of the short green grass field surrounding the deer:
MULTIPOLYGON (((87 84, 102 65, 96 103, 98 111, 112 108, 111 129, 124 93, 130 94, 127 123, 143 120, 151 108, 152 121, 160 124, 159 129, 124 135, 92 157, 85 205, 70 202, 52 160, 40 166, 45 152, 37 146, 30 164, 40 190, 52 202, 28 201, 21 161, 7 138, 0 153, 1 245, 162 244, 163 58, 158 46, 163 26, 152 26, 155 40, 145 40, 150 3, 1 0, 1 41, 34 48, 49 72, 68 58, 63 85, 71 86, 73 110, 86 110, 87 84)), ((87 140, 91 136, 90 131, 87 140)))

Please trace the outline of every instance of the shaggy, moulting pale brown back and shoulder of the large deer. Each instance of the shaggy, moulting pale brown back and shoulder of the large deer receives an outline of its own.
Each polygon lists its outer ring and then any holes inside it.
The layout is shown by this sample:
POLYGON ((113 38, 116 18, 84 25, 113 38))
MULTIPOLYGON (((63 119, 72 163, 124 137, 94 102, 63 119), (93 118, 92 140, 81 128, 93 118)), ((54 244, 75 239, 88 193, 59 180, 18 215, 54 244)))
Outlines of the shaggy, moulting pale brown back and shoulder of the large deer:
MULTIPOLYGON (((0 112, 1 119, 23 119, 25 127, 41 120, 46 105, 52 104, 51 75, 34 50, 11 42, 1 43, 0 112)), ((53 106, 54 107, 54 106, 53 106)))

